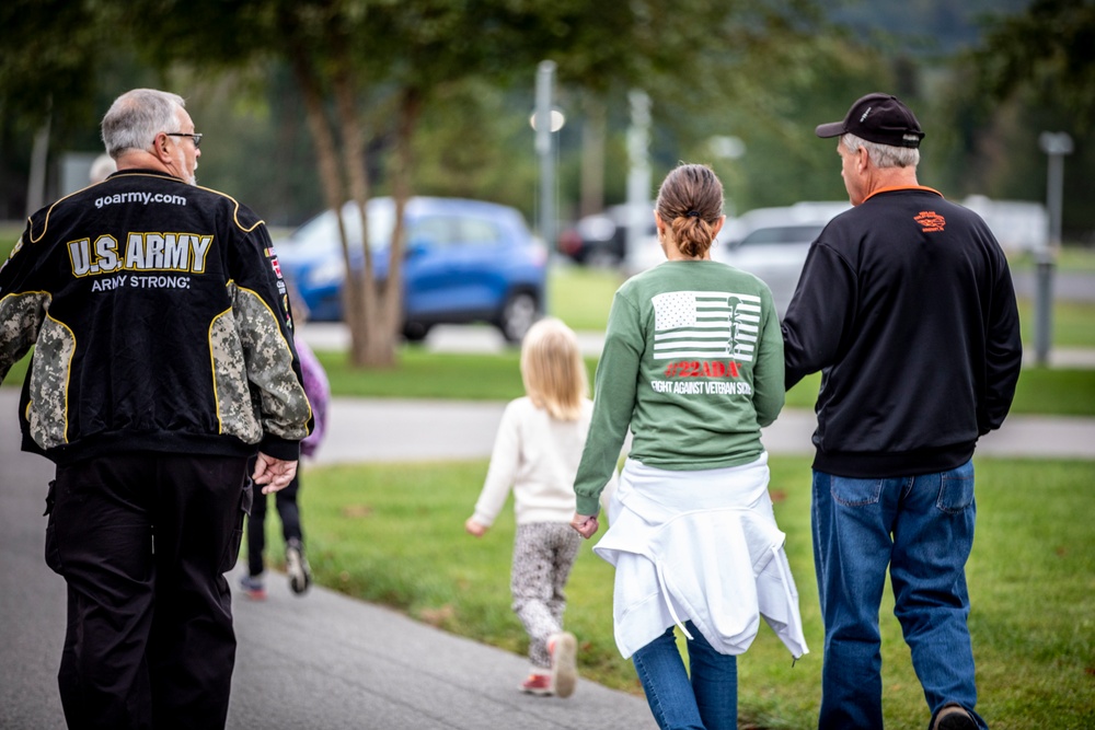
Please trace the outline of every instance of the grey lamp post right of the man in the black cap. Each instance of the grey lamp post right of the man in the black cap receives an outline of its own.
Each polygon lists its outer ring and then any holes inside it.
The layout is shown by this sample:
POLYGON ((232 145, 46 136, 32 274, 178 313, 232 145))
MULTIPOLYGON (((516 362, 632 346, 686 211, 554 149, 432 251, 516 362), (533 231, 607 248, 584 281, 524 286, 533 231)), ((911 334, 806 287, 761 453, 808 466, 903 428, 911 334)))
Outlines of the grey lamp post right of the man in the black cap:
POLYGON ((1046 179, 1046 208, 1049 210, 1049 237, 1035 251, 1037 282, 1035 291, 1035 357, 1038 364, 1049 361, 1053 312, 1053 252, 1061 245, 1061 201, 1064 190, 1064 155, 1072 154, 1068 132, 1044 131, 1038 146, 1049 157, 1046 179))

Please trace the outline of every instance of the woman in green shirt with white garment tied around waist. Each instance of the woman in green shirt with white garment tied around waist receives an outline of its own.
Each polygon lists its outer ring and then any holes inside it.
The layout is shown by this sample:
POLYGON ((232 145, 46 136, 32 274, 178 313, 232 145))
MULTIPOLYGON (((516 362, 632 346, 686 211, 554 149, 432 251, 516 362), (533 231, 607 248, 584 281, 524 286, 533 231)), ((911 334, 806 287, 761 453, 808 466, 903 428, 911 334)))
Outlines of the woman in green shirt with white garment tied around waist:
POLYGON ((783 407, 783 340, 768 286, 711 259, 726 218, 710 167, 671 171, 654 220, 668 260, 612 300, 572 525, 597 532, 630 428, 611 528, 593 548, 615 566, 616 646, 658 727, 726 730, 737 727, 737 654, 761 615, 794 657, 807 652, 760 438, 783 407))

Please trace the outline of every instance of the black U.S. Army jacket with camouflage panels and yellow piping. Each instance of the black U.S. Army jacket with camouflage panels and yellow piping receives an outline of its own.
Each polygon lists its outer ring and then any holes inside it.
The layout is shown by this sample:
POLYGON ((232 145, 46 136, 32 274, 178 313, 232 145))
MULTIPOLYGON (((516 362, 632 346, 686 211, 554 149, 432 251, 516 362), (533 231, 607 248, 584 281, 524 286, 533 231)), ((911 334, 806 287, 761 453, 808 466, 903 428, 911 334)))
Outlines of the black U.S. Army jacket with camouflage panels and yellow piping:
POLYGON ((286 294, 265 224, 215 190, 127 170, 43 208, 0 268, 0 379, 35 348, 23 448, 297 459, 286 294))

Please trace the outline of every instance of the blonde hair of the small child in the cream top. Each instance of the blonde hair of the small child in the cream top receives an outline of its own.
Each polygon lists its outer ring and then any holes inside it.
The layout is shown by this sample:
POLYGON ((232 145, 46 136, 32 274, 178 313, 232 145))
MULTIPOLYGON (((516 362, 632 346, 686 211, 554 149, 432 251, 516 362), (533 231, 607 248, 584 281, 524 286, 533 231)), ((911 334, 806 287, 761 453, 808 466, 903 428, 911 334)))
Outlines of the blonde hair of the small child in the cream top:
POLYGON ((576 420, 589 378, 574 331, 555 317, 533 324, 521 344, 521 380, 537 407, 552 418, 576 420))

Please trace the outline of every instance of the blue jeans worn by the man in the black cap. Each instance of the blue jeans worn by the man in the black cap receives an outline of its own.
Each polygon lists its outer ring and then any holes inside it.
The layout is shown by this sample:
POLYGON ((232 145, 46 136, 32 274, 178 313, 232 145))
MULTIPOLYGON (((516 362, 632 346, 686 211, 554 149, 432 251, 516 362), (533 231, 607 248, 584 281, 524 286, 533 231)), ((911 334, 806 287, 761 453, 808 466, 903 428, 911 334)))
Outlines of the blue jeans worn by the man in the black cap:
POLYGON ((818 727, 883 727, 878 609, 889 566, 894 613, 934 717, 973 712, 966 560, 973 545, 973 464, 915 477, 814 472, 814 566, 825 619, 818 727))

